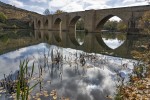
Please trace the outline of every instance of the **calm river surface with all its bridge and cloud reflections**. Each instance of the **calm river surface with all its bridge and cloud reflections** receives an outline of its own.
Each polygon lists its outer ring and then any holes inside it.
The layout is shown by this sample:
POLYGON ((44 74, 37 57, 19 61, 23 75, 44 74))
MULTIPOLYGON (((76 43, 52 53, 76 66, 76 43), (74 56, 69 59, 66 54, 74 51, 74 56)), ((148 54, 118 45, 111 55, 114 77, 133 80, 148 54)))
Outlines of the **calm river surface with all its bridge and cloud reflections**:
MULTIPOLYGON (((149 38, 127 36, 122 33, 84 34, 50 31, 4 31, 0 34, 0 80, 4 74, 15 76, 20 61, 29 60, 29 69, 35 63, 34 77, 42 67, 42 83, 34 88, 32 96, 40 91, 54 89, 58 97, 70 100, 109 100, 114 96, 121 79, 128 81, 134 65, 138 62, 131 55, 139 41, 149 38), (136 39, 133 39, 136 38, 136 39), (134 41, 133 41, 134 40, 134 41), (59 55, 61 62, 53 64, 59 55), (84 56, 85 63, 81 63, 84 56), (126 65, 124 67, 123 65, 126 65)), ((30 85, 34 83, 31 82, 30 85)), ((0 99, 6 99, 0 95, 0 99)), ((49 100, 51 97, 43 97, 49 100)))

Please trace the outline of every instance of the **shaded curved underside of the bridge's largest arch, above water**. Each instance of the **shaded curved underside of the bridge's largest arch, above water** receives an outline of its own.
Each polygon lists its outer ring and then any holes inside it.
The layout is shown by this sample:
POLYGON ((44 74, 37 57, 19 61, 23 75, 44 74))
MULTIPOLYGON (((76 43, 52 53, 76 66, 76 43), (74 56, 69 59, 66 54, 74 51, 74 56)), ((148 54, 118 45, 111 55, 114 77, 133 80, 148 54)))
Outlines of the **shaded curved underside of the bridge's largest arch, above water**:
MULTIPOLYGON (((100 31, 100 30, 102 29, 102 27, 104 26, 104 24, 105 24, 111 17, 114 17, 114 16, 117 16, 117 15, 110 14, 110 15, 105 16, 102 20, 100 20, 100 21, 98 22, 98 24, 96 25, 96 28, 95 28, 96 31, 100 31)), ((120 16, 117 16, 117 17, 119 17, 119 18, 125 23, 125 21, 123 20, 122 17, 120 17, 120 16)), ((126 25, 126 23, 125 23, 125 25, 126 25)))

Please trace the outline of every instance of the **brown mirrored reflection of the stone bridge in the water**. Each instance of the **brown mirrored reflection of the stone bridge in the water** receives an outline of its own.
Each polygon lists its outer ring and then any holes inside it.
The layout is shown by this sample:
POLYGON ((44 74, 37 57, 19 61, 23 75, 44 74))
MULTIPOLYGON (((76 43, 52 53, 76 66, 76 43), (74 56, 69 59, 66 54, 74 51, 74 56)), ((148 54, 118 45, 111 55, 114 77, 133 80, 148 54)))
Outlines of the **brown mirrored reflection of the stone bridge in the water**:
POLYGON ((84 38, 84 43, 79 45, 75 36, 70 36, 69 33, 47 30, 35 30, 35 38, 42 39, 45 42, 61 46, 64 48, 73 48, 83 50, 90 53, 101 53, 123 58, 132 58, 131 51, 134 48, 133 39, 127 36, 126 41, 116 49, 109 48, 102 40, 101 34, 88 33, 84 38), (60 35, 61 34, 61 35, 60 35))

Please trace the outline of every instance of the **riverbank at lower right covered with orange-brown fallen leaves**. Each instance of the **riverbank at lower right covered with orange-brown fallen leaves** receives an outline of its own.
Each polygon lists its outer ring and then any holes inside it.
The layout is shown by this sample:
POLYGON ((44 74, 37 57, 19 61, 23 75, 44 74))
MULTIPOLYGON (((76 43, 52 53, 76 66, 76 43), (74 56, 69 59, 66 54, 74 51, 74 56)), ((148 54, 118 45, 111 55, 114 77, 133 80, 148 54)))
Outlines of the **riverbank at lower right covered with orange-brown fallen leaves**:
POLYGON ((150 44, 142 48, 142 52, 134 51, 132 55, 143 64, 135 66, 128 84, 118 88, 115 100, 150 100, 150 44))

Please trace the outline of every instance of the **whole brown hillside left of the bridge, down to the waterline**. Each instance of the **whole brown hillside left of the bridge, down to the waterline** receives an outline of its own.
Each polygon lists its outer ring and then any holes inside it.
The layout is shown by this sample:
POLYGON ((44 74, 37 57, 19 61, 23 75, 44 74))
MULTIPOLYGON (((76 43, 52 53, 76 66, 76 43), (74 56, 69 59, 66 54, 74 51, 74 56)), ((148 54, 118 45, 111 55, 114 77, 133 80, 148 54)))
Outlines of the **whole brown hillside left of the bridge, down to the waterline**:
POLYGON ((42 16, 38 13, 27 11, 0 1, 0 12, 6 15, 5 22, 0 22, 1 29, 31 29, 29 22, 32 17, 42 16))

